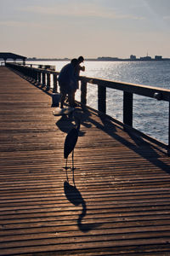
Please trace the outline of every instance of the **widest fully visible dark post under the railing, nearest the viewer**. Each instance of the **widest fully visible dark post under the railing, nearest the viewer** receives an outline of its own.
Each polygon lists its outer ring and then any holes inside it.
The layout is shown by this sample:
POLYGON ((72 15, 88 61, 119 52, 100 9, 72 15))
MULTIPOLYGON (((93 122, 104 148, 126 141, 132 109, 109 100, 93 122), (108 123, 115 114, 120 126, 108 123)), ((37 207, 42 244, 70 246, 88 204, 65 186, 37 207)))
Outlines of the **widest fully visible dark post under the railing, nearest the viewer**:
POLYGON ((123 123, 133 127, 133 93, 123 91, 123 123))

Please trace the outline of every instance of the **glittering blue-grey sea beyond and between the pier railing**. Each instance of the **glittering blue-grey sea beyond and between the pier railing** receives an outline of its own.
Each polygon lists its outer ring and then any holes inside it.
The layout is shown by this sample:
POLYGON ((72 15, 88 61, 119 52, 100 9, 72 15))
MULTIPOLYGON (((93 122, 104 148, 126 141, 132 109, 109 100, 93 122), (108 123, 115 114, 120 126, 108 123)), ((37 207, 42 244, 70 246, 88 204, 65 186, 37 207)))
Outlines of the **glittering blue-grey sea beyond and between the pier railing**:
MULTIPOLYGON (((31 63, 31 62, 29 62, 31 63)), ((56 71, 68 61, 33 61, 54 65, 56 71)), ((144 84, 170 89, 170 61, 85 61, 82 76, 144 84)), ((80 91, 77 90, 77 100, 80 91)), ((133 127, 167 143, 168 102, 158 102, 144 96, 133 96, 133 127)), ((97 86, 88 84, 88 106, 97 109, 97 86)), ((107 89, 106 111, 122 121, 122 91, 107 89)))

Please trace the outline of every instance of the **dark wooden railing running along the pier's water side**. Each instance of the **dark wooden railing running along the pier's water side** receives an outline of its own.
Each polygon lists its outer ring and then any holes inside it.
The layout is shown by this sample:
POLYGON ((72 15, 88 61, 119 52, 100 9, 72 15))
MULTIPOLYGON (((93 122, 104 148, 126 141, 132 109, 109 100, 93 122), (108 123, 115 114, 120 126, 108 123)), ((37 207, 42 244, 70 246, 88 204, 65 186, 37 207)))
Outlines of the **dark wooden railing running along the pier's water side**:
MULTIPOLYGON (((46 86, 47 90, 52 90, 54 93, 58 91, 57 77, 59 72, 55 72, 54 68, 47 67, 28 67, 15 63, 6 63, 7 67, 22 73, 24 76, 34 80, 42 86, 46 86)), ((159 87, 146 86, 141 84, 122 83, 117 81, 110 81, 106 79, 95 79, 81 76, 81 103, 87 104, 87 84, 96 84, 98 86, 98 111, 99 113, 106 113, 106 88, 115 90, 122 90, 123 107, 122 107, 122 122, 116 120, 117 124, 122 125, 123 129, 127 131, 133 131, 139 134, 141 137, 150 140, 152 143, 156 143, 161 148, 167 150, 167 154, 170 154, 170 90, 162 89, 159 87), (146 96, 155 98, 158 101, 165 101, 168 103, 168 143, 161 143, 155 138, 149 137, 141 131, 133 128, 133 94, 139 96, 146 96)), ((163 129, 163 127, 162 127, 163 129)))

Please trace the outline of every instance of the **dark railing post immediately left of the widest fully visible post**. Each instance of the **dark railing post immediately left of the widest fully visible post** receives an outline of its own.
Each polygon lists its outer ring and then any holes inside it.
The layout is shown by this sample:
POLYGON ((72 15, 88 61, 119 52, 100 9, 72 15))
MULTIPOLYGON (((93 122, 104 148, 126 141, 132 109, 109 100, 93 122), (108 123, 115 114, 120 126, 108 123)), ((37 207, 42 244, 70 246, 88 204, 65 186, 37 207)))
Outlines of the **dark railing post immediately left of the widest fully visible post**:
POLYGON ((98 110, 106 113, 106 88, 98 85, 98 110))

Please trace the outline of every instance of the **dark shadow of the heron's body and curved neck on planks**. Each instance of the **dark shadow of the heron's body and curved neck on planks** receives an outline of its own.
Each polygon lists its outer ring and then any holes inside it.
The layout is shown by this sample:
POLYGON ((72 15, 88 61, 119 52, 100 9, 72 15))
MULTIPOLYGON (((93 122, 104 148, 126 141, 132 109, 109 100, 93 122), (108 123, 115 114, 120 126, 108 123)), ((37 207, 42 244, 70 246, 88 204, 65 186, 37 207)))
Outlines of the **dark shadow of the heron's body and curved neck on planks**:
POLYGON ((67 200, 71 202, 71 204, 73 204, 75 207, 82 205, 82 212, 78 216, 78 219, 77 219, 77 226, 78 226, 79 230, 86 233, 90 230, 93 230, 93 229, 99 227, 100 224, 94 224, 94 223, 93 224, 88 224, 88 223, 82 224, 82 218, 84 218, 87 214, 87 206, 86 206, 86 202, 82 198, 82 195, 81 195, 80 191, 77 189, 77 187, 72 186, 70 183, 65 181, 64 190, 65 190, 65 196, 66 196, 67 200))

